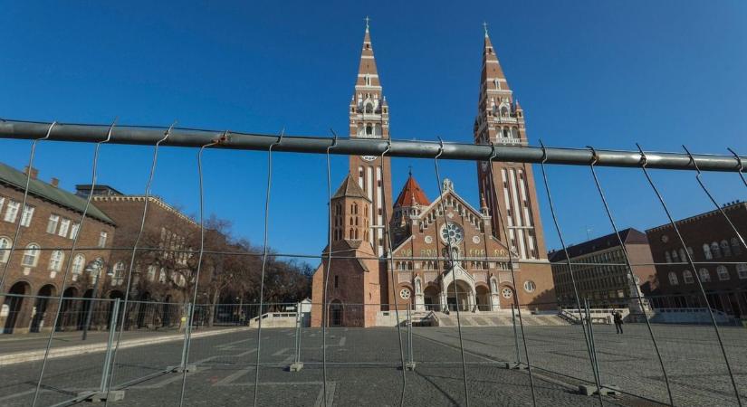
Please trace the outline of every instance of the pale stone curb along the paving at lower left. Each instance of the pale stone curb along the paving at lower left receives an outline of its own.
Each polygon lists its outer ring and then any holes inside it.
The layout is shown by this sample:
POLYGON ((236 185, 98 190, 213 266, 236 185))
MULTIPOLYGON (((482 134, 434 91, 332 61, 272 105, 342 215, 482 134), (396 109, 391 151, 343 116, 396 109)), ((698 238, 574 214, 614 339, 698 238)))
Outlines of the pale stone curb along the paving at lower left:
MULTIPOLYGON (((192 338, 198 338, 198 337, 206 337, 206 336, 216 336, 216 335, 223 335, 223 334, 232 334, 235 332, 250 330, 249 327, 237 327, 237 328, 228 328, 228 329, 221 329, 217 331, 208 331, 208 332, 197 332, 192 334, 192 338)), ((168 336, 158 336, 154 338, 139 338, 139 339, 129 339, 129 340, 123 340, 120 342, 120 349, 127 349, 130 347, 138 347, 143 345, 155 345, 155 344, 163 344, 167 342, 176 342, 179 340, 184 340, 184 334, 173 334, 168 336)), ((85 354, 92 354, 97 352, 104 352, 106 350, 107 343, 99 343, 94 345, 75 345, 75 346, 66 346, 66 347, 60 347, 60 348, 52 348, 49 352, 48 359, 55 359, 59 357, 66 357, 66 356, 72 356, 72 355, 85 355, 85 354)), ((0 355, 0 366, 5 366, 8 364, 23 364, 26 362, 34 362, 37 360, 42 360, 44 358, 45 351, 44 350, 38 350, 38 351, 30 351, 30 352, 19 352, 15 354, 10 355, 0 355)))

